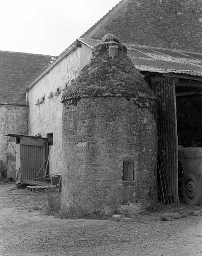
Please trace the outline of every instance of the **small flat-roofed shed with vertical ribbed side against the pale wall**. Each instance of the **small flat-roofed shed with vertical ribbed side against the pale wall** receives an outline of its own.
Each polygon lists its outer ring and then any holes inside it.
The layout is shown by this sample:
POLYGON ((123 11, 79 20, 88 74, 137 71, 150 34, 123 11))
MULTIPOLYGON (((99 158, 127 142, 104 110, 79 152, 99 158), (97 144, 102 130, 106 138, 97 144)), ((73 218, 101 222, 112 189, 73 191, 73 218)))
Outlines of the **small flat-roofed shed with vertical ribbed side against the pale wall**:
MULTIPOLYGON (((16 138, 16 181, 18 183, 20 180, 32 180, 49 175, 48 138, 22 134, 7 136, 16 138)), ((43 178, 38 180, 42 181, 43 178)))

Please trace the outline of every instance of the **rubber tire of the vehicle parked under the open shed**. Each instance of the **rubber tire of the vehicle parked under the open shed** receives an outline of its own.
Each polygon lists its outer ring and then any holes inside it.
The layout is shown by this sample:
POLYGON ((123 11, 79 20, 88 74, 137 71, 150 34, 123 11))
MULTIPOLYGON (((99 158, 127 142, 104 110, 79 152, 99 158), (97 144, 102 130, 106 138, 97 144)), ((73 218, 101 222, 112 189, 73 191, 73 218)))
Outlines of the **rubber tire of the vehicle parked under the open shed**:
POLYGON ((182 198, 185 203, 198 205, 202 202, 202 180, 199 176, 187 174, 182 179, 182 198))

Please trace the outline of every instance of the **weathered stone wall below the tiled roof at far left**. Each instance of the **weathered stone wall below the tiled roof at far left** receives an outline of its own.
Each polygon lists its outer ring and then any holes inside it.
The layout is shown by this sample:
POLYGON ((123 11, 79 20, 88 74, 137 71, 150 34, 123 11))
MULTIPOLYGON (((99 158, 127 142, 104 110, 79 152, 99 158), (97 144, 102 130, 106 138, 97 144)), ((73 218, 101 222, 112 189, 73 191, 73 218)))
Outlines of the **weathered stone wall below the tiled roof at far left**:
POLYGON ((3 163, 3 175, 7 169, 7 144, 10 137, 6 134, 27 134, 27 106, 0 105, 0 160, 3 163))

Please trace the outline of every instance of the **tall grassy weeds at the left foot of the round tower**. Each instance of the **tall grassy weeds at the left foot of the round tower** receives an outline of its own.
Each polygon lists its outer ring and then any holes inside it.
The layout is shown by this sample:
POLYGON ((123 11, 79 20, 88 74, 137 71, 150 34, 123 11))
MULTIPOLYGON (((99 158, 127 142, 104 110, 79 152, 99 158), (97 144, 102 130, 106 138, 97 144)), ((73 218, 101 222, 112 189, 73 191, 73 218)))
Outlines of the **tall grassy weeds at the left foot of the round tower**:
POLYGON ((47 195, 47 201, 44 204, 47 215, 55 215, 58 218, 99 218, 105 219, 106 215, 104 208, 99 205, 87 207, 81 207, 76 202, 69 203, 66 207, 58 201, 58 198, 47 195))

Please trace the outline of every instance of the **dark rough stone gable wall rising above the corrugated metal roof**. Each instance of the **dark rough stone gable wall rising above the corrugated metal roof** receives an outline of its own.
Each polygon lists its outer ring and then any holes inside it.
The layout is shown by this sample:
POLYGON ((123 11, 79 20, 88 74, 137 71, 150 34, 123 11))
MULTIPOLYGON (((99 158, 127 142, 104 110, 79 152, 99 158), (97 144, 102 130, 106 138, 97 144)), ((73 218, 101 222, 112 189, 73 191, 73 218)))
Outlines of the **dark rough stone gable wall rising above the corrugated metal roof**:
POLYGON ((103 27, 84 37, 101 39, 106 33, 123 43, 201 52, 202 1, 129 0, 103 27))

